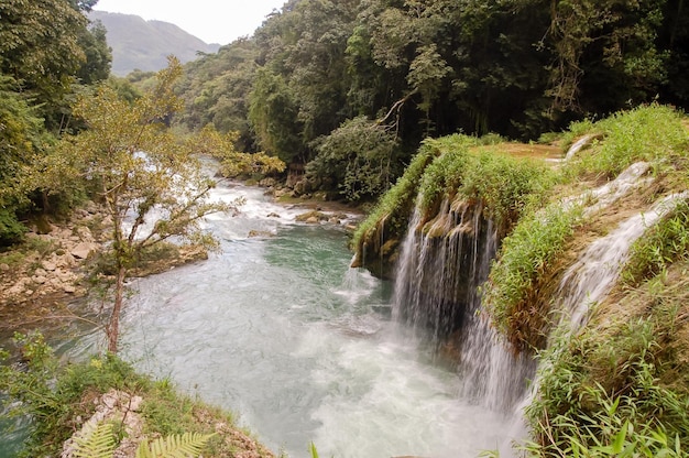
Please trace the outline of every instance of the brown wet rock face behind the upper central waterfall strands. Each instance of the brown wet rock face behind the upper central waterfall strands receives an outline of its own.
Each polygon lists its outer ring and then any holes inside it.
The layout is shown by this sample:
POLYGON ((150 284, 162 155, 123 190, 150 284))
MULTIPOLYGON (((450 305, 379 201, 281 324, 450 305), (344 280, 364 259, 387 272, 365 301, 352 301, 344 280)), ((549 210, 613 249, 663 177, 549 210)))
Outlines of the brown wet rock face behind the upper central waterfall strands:
POLYGON ((438 341, 460 330, 479 307, 478 288, 497 244, 480 204, 460 204, 445 203, 433 220, 411 226, 397 265, 398 316, 438 341))

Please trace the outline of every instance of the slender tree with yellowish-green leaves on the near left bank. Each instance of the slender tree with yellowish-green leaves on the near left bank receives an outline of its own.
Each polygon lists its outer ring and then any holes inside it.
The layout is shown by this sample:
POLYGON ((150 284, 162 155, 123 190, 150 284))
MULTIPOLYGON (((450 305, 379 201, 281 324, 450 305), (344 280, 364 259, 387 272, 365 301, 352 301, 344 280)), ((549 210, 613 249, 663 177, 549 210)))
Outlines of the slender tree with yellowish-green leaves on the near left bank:
POLYGON ((63 174, 54 183, 62 183, 65 173, 80 171, 99 187, 112 218, 114 304, 106 326, 112 352, 118 349, 124 280, 135 262, 172 237, 212 248, 216 241, 200 230, 199 221, 230 208, 208 201, 215 182, 201 173, 189 145, 176 143, 165 126, 181 108, 173 92, 181 72, 179 63, 171 58, 168 68, 157 74, 154 90, 133 103, 118 98, 107 85, 92 97, 81 97, 74 112, 88 129, 65 135, 54 153, 55 166, 47 171, 63 174))

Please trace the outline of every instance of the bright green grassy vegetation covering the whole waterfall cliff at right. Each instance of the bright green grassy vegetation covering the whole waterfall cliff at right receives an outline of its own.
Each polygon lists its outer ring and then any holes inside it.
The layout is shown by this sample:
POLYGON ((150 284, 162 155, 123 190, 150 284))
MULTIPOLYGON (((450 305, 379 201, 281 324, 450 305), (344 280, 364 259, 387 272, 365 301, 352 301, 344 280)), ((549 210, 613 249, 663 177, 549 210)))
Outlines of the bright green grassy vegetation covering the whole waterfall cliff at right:
MULTIPOLYGON (((430 144, 446 149, 430 155, 425 167, 417 165, 413 175, 403 176, 397 186, 406 186, 393 188, 381 200, 354 238, 359 255, 376 262, 376 254, 370 257, 361 246, 369 250, 384 246, 387 239, 378 238, 385 217, 408 221, 409 203, 416 196, 422 223, 408 230, 417 232, 436 216, 441 199, 459 197, 492 206, 486 217, 508 223, 499 225, 500 249, 481 288, 483 314, 515 352, 535 352, 540 360, 537 391, 527 410, 534 439, 525 447, 527 455, 685 456, 682 450, 689 447, 686 118, 669 107, 643 106, 598 122, 573 123, 559 137, 564 145, 580 138, 589 144, 567 161, 534 165, 520 157, 504 160, 501 150, 514 153, 505 143, 490 146, 486 157, 475 151, 477 139, 426 141, 419 157, 430 144), (510 161, 504 168, 503 160, 510 161), (633 164, 647 165, 616 183, 633 164), (480 187, 471 185, 472 176, 481 177, 480 187), (624 192, 630 188, 634 192, 624 192), (404 200, 398 198, 402 189, 404 200), (592 304, 586 327, 572 334, 561 321, 566 310, 556 299, 567 268, 591 241, 666 196, 676 196, 676 204, 666 204, 658 221, 633 243, 621 281, 604 301, 592 304), (395 207, 401 201, 406 205, 395 207)), ((389 237, 398 239, 402 233, 389 237)))

